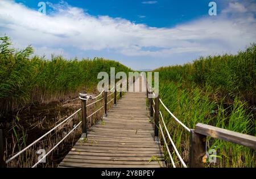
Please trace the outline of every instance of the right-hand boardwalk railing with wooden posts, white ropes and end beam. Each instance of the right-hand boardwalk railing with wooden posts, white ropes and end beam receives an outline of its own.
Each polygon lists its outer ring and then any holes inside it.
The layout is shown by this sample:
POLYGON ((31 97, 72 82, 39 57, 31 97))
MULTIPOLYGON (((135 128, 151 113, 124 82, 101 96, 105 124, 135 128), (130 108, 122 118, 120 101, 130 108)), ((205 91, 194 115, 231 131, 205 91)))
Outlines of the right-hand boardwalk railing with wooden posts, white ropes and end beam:
MULTIPOLYGON (((149 97, 149 94, 152 94, 152 93, 154 93, 152 88, 147 84, 148 108, 150 110, 150 117, 151 118, 154 117, 155 140, 158 140, 158 136, 161 135, 161 134, 162 134, 162 137, 164 138, 163 131, 162 131, 162 129, 159 128, 159 127, 162 127, 159 123, 159 113, 160 113, 160 117, 162 117, 162 119, 163 119, 163 116, 162 116, 162 113, 159 110, 160 97, 159 97, 159 95, 155 95, 156 97, 154 98, 155 99, 154 100, 153 98, 149 97), (161 131, 160 134, 159 134, 159 129, 161 131)), ((161 101, 162 105, 164 105, 162 100, 160 100, 160 101, 161 101)), ((164 105, 164 107, 166 108, 165 105, 164 105)), ((166 110, 168 110, 168 109, 166 108, 166 110)), ((175 118, 175 120, 177 122, 180 123, 180 125, 182 125, 190 133, 189 164, 188 164, 188 167, 192 167, 192 168, 205 167, 205 162, 203 161, 203 159, 204 159, 205 156, 207 156, 206 155, 207 151, 205 151, 207 137, 212 137, 212 138, 216 138, 216 139, 225 140, 225 141, 228 141, 228 142, 240 144, 240 145, 245 146, 245 147, 250 147, 250 148, 253 148, 254 150, 256 150, 256 137, 255 136, 246 135, 246 134, 242 134, 242 133, 237 133, 237 132, 226 130, 226 129, 221 129, 219 127, 206 125, 204 123, 197 123, 196 126, 195 126, 195 129, 189 129, 181 121, 179 121, 174 116, 174 114, 172 114, 170 112, 170 110, 168 110, 168 112, 171 114, 171 116, 173 118, 175 118)), ((183 167, 187 167, 187 165, 184 163, 183 159, 180 157, 179 152, 177 151, 176 146, 175 146, 175 144, 173 143, 173 141, 171 139, 170 131, 167 131, 164 120, 162 120, 162 122, 163 122, 163 126, 165 127, 166 132, 168 134, 168 138, 171 140, 172 146, 174 147, 177 156, 179 157, 181 163, 183 164, 183 167)), ((168 154, 170 155, 172 165, 173 165, 173 167, 175 167, 175 163, 172 159, 171 152, 170 152, 170 149, 168 148, 166 139, 164 139, 164 143, 167 147, 168 154)))

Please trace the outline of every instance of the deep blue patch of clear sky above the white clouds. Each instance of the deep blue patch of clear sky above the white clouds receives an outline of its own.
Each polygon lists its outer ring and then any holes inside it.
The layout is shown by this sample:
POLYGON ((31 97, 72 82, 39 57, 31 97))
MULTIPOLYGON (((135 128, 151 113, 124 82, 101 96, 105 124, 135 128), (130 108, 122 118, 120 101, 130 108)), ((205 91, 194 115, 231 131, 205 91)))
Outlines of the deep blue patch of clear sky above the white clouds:
MULTIPOLYGON (((16 0, 30 8, 38 9, 42 0, 16 0)), ((58 3, 60 1, 49 1, 58 3)), ((88 14, 108 15, 112 18, 128 19, 135 23, 144 23, 151 27, 173 27, 179 23, 208 15, 210 1, 138 1, 138 0, 85 0, 65 1, 71 6, 80 7, 88 14)), ((221 2, 221 1, 220 1, 221 2)), ((222 3, 219 3, 220 7, 222 3)))

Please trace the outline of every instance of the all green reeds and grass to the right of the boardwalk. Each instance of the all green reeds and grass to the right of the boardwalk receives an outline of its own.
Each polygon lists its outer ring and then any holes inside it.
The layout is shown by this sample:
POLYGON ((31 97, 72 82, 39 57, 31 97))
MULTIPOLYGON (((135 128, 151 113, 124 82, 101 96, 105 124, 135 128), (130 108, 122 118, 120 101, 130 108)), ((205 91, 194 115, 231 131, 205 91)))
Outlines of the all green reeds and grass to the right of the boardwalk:
MULTIPOLYGON (((196 123, 256 135, 256 45, 237 55, 200 58, 183 66, 161 67, 160 98, 181 122, 191 129, 196 123)), ((189 133, 160 105, 168 130, 188 163, 189 133)), ((171 148, 171 144, 170 144, 171 148)), ((223 140, 208 139, 208 150, 217 151, 210 167, 256 167, 256 152, 223 140)), ((175 157, 175 153, 172 155, 175 157)), ((168 154, 166 155, 168 156, 168 154)), ((174 160, 177 166, 180 161, 174 160)), ((169 161, 170 163, 170 161, 169 161)))

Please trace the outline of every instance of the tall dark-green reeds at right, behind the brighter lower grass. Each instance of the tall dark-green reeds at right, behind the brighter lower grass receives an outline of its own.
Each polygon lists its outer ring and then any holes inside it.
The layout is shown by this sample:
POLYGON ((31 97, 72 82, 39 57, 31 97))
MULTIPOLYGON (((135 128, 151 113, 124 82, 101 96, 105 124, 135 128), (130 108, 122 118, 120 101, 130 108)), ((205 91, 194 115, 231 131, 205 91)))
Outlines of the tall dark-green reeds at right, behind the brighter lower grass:
POLYGON ((201 57, 193 63, 160 67, 160 79, 217 90, 226 100, 242 96, 251 105, 256 103, 256 44, 236 55, 201 57))

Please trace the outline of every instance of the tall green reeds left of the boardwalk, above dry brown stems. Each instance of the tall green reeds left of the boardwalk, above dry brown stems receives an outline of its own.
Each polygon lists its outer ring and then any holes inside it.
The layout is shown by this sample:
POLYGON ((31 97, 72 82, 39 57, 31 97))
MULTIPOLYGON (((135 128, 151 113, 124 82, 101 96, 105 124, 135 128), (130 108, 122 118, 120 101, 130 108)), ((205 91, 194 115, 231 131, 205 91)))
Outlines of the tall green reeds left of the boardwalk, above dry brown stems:
POLYGON ((61 56, 47 60, 33 56, 28 46, 11 49, 9 37, 0 38, 0 113, 17 110, 36 102, 64 100, 81 90, 96 87, 100 71, 130 71, 121 63, 102 58, 67 60, 61 56))

